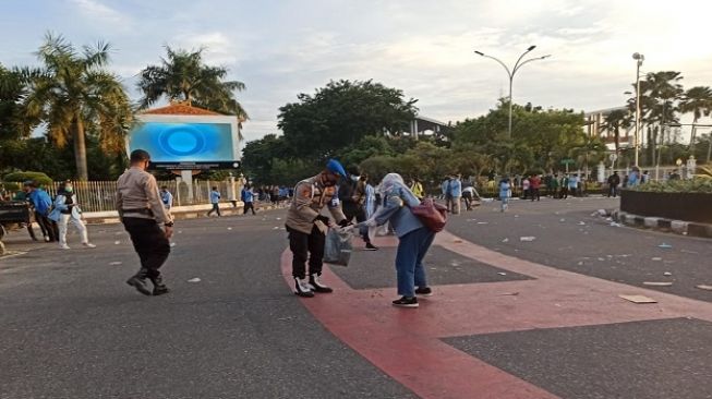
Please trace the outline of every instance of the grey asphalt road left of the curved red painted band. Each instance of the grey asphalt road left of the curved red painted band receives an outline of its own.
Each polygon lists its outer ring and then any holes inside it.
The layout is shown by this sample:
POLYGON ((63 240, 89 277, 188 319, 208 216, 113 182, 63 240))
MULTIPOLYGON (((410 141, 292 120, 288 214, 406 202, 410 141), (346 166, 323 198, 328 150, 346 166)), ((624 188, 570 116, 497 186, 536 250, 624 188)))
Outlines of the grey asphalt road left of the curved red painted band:
POLYGON ((157 298, 124 283, 137 257, 118 225, 89 227, 95 250, 17 234, 34 251, 0 259, 0 398, 414 397, 285 285, 281 216, 179 222, 157 298))

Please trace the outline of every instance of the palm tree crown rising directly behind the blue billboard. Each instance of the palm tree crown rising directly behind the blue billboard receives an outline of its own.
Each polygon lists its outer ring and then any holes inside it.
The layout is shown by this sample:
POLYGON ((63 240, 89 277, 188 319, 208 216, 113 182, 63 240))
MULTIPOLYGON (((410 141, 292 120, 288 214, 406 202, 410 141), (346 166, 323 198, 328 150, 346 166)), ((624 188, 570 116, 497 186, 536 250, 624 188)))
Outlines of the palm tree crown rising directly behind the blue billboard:
POLYGON ((161 65, 148 65, 141 71, 138 88, 144 94, 141 108, 147 108, 165 96, 169 100, 234 114, 239 120, 248 119, 248 113, 234 98, 236 90, 245 88, 244 83, 224 81, 228 70, 205 65, 203 49, 189 52, 166 46, 166 53, 161 65))

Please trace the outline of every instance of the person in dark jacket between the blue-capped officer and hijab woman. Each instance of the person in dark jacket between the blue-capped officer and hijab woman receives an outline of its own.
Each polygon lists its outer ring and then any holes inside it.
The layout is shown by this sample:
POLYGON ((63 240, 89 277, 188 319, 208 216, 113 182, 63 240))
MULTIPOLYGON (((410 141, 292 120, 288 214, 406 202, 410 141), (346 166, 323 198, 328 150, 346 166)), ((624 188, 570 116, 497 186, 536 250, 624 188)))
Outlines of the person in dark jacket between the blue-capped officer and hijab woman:
MULTIPOLYGON (((366 220, 366 174, 359 176, 357 167, 349 168, 349 177, 339 184, 339 202, 341 203, 341 210, 348 221, 355 219, 357 223, 366 220)), ((377 251, 378 247, 371 242, 369 238, 369 229, 360 228, 359 233, 365 243, 365 251, 377 251)))

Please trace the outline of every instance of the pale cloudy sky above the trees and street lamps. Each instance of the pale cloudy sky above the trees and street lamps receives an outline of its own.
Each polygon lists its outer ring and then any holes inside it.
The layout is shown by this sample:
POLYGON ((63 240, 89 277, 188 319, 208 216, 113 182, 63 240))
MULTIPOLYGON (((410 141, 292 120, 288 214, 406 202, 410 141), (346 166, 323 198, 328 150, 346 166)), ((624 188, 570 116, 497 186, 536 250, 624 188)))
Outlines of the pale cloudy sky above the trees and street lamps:
MULTIPOLYGON (((112 45, 110 69, 130 90, 164 46, 206 48, 205 60, 244 82, 248 141, 279 133, 279 107, 331 80, 373 80, 417 98, 443 122, 475 118, 508 95, 502 65, 535 45, 514 100, 592 111, 625 104, 641 73, 683 72, 712 85, 703 0, 0 0, 0 63, 34 65, 47 32, 76 46, 112 45)), ((709 122, 708 122, 709 123, 709 122)))

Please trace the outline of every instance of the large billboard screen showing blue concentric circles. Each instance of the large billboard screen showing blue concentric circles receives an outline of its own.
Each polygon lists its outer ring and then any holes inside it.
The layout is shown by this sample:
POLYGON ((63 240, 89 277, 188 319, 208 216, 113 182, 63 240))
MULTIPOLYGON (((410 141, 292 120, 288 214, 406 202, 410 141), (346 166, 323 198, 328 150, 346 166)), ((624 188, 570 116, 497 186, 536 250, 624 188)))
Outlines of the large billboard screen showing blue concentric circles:
POLYGON ((195 170, 240 166, 236 117, 140 114, 128 150, 145 149, 153 168, 195 170))

